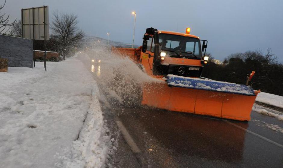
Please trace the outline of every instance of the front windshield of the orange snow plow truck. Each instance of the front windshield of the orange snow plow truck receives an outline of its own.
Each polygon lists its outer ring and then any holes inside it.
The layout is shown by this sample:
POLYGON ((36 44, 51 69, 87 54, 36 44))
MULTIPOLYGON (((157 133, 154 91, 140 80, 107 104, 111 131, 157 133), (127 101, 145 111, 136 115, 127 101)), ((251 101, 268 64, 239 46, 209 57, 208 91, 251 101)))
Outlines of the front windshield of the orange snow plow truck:
POLYGON ((159 34, 160 48, 170 57, 201 59, 200 40, 172 34, 159 34))

